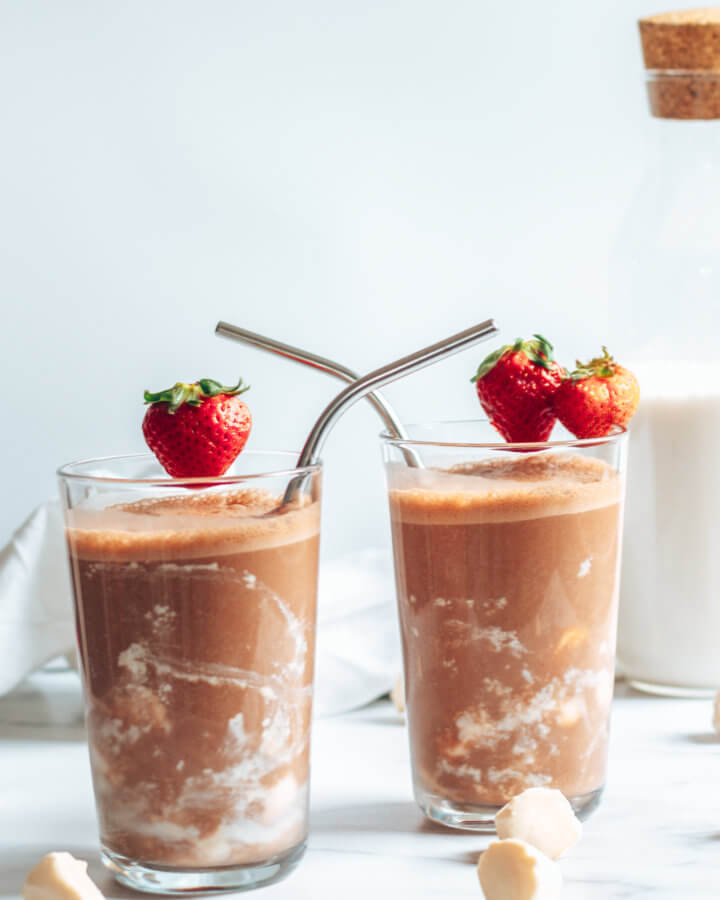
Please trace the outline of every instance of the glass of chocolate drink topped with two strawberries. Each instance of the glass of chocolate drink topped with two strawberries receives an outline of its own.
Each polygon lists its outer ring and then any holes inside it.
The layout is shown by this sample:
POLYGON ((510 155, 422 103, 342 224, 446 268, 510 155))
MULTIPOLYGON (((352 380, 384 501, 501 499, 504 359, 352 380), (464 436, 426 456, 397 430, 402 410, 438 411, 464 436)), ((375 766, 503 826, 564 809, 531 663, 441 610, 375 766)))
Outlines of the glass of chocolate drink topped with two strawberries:
POLYGON ((487 422, 408 434, 382 441, 416 800, 437 822, 491 830, 511 797, 547 786, 586 815, 605 782, 625 431, 524 445, 487 422))

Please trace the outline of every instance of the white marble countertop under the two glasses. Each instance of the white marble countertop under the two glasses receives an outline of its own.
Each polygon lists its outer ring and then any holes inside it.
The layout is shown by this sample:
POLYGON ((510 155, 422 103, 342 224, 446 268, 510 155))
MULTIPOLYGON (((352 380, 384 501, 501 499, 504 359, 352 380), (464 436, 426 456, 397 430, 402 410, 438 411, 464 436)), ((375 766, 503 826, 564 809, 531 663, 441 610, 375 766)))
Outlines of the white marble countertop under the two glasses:
MULTIPOLYGON (((620 684, 608 785, 561 860, 568 900, 709 900, 720 891, 720 738, 708 700, 647 697, 620 684)), ((342 895, 479 898, 490 838, 425 821, 412 799, 407 736, 387 701, 315 724, 311 836, 275 900, 342 895)), ((34 676, 0 698, 0 898, 18 898, 50 850, 90 861, 107 897, 137 898, 103 870, 74 673, 34 676)))

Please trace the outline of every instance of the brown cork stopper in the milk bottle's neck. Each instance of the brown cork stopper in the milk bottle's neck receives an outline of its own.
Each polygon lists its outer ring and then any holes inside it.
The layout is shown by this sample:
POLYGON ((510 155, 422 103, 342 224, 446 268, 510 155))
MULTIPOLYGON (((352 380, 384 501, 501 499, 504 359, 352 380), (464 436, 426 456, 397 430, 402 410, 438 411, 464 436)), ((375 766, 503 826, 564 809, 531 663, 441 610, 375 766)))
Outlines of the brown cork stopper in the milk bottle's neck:
POLYGON ((638 25, 652 114, 720 118, 720 7, 660 13, 638 25))

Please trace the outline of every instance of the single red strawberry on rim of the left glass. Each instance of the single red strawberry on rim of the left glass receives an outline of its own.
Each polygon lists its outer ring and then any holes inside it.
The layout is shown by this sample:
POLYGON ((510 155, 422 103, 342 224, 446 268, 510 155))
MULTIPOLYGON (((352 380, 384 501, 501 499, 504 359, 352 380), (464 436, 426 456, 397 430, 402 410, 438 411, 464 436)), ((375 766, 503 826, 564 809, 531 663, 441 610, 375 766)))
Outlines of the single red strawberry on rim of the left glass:
POLYGON ((145 391, 150 406, 143 419, 148 447, 174 478, 222 475, 250 434, 250 410, 239 395, 242 378, 223 387, 210 378, 193 384, 179 381, 157 394, 145 391))

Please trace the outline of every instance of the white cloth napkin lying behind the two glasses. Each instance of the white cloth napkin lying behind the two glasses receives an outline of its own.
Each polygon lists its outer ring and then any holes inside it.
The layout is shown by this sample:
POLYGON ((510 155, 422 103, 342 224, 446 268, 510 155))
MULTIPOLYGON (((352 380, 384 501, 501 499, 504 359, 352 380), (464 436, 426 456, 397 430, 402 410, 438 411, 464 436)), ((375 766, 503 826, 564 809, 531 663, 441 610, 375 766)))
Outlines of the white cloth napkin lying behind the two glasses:
MULTIPOLYGON (((315 713, 371 702, 400 671, 392 565, 365 550, 320 568, 315 713)), ((60 504, 39 506, 0 551, 0 695, 75 647, 60 504)))

